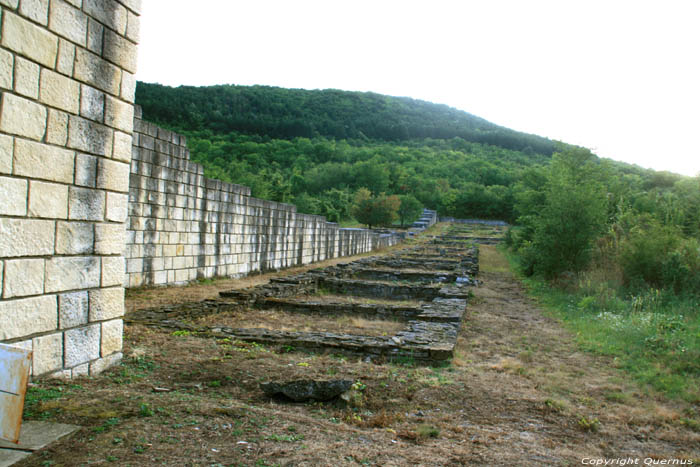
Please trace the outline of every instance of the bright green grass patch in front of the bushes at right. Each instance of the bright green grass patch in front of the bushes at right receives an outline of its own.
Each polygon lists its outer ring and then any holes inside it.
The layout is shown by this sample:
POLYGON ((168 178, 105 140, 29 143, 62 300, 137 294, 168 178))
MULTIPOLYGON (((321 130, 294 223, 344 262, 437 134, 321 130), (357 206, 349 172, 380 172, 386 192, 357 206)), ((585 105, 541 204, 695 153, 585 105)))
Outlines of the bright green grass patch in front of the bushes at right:
MULTIPOLYGON (((509 259, 515 262, 512 255, 509 259)), ((529 293, 575 334, 580 347, 612 357, 615 366, 669 398, 700 402, 697 297, 654 289, 624 296, 605 282, 589 279, 567 290, 538 278, 522 280, 529 293)))

